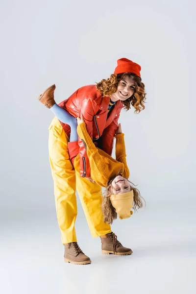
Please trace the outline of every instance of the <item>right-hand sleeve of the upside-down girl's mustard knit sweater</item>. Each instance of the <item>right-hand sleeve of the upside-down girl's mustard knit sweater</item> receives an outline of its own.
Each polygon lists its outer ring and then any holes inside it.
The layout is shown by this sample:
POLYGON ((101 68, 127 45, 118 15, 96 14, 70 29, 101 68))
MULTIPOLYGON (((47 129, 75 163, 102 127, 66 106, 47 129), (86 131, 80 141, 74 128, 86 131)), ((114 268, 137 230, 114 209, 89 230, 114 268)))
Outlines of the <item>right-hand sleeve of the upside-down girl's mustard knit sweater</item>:
POLYGON ((126 150, 124 144, 124 134, 116 134, 116 160, 123 163, 125 178, 129 177, 129 169, 126 162, 126 150))

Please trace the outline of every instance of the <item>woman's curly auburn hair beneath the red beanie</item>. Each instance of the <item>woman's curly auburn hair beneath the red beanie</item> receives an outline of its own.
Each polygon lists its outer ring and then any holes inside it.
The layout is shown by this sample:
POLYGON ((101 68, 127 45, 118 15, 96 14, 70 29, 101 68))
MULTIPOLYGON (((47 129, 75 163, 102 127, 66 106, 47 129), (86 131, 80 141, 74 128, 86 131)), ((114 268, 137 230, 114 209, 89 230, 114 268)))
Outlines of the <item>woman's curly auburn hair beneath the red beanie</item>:
POLYGON ((135 82, 135 91, 130 98, 123 101, 124 109, 129 110, 132 105, 135 108, 135 112, 140 113, 141 110, 145 109, 146 93, 141 77, 135 73, 112 73, 108 79, 102 79, 97 83, 96 88, 102 96, 111 96, 117 91, 119 82, 126 76, 135 82))

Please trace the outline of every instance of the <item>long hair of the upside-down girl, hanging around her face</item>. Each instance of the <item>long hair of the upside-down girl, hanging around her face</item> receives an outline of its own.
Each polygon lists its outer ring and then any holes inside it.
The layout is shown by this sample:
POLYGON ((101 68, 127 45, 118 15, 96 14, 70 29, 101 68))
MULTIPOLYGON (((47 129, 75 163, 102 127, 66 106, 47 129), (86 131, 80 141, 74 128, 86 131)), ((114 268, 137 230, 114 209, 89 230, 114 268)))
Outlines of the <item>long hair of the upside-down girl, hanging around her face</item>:
MULTIPOLYGON (((104 192, 103 201, 102 201, 102 205, 101 205, 104 222, 107 221, 109 224, 112 224, 112 222, 117 219, 116 209, 112 206, 112 202, 110 200, 110 196, 112 195, 112 190, 111 190, 112 181, 115 179, 115 177, 117 175, 122 175, 122 171, 120 171, 118 174, 114 175, 107 182, 106 190, 104 192)), ((129 181, 129 183, 131 183, 133 186, 135 186, 132 182, 129 181)), ((137 188, 133 187, 132 185, 130 185, 130 188, 131 188, 131 190, 133 190, 133 210, 137 211, 139 208, 143 207, 142 199, 145 202, 145 206, 146 206, 146 201, 141 196, 140 191, 137 188)))

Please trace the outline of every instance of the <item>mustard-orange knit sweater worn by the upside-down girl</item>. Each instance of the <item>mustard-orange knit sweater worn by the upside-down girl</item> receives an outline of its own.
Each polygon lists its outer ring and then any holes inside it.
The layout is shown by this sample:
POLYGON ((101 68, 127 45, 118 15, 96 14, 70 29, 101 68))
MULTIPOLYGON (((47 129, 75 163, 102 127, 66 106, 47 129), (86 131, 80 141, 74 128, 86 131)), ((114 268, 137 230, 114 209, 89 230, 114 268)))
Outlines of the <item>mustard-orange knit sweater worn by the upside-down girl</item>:
MULTIPOLYGON (((124 144, 124 134, 117 134, 116 137, 116 160, 99 149, 93 143, 91 137, 86 130, 86 124, 80 123, 77 126, 77 133, 80 139, 86 145, 87 155, 91 167, 91 177, 99 186, 106 187, 108 180, 118 174, 120 170, 123 177, 129 177, 129 170, 126 163, 126 153, 124 144)), ((74 168, 79 170, 79 156, 74 160, 74 168)))

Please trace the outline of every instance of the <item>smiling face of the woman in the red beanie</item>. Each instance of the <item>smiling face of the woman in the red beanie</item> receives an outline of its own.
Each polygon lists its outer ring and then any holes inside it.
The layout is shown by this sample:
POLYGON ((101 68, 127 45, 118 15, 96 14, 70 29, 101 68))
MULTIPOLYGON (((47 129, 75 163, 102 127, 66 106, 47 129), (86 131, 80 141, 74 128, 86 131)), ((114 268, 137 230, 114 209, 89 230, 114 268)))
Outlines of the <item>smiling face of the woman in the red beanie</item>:
POLYGON ((118 100, 126 100, 130 98, 135 91, 135 82, 129 78, 129 76, 125 76, 118 84, 117 91, 112 94, 111 100, 116 102, 118 100))

